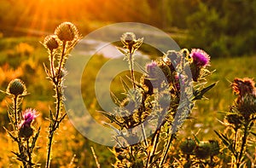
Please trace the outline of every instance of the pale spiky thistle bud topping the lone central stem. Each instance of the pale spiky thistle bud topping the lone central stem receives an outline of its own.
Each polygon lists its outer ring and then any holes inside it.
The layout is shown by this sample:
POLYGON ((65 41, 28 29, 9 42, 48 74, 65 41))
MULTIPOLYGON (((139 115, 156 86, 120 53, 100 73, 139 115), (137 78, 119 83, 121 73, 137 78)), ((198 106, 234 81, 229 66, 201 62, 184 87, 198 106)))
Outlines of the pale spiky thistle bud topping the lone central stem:
POLYGON ((120 40, 124 44, 125 49, 128 49, 130 53, 136 51, 143 44, 143 38, 136 39, 133 32, 125 32, 120 40))

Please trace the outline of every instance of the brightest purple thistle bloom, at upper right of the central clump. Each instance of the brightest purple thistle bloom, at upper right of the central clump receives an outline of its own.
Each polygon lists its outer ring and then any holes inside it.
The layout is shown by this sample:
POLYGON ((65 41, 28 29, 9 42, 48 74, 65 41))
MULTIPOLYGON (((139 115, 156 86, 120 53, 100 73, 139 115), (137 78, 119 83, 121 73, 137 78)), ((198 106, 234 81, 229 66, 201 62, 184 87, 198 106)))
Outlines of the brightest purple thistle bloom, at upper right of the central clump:
POLYGON ((192 49, 190 56, 197 66, 206 67, 209 65, 210 56, 202 49, 192 49))

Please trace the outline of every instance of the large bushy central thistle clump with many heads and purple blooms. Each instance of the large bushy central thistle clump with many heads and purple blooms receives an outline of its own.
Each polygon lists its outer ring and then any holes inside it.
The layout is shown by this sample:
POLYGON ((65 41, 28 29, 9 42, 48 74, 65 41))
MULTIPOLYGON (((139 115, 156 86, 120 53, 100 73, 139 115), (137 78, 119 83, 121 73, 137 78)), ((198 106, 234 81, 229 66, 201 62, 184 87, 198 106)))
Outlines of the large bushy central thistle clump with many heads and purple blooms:
POLYGON ((211 74, 207 70, 210 57, 201 49, 192 50, 191 55, 188 49, 169 50, 160 59, 149 62, 137 81, 134 53, 143 44, 143 38, 136 39, 134 33, 125 32, 120 41, 125 49, 119 50, 128 61, 131 77, 127 78, 133 87, 130 89, 121 78, 126 98, 119 100, 112 94, 119 108, 113 109, 113 114, 102 112, 117 132, 113 136, 114 167, 170 166, 168 154, 177 130, 189 117, 195 101, 215 85, 204 88, 202 84, 204 77, 211 74), (149 130, 148 137, 146 130, 149 130))

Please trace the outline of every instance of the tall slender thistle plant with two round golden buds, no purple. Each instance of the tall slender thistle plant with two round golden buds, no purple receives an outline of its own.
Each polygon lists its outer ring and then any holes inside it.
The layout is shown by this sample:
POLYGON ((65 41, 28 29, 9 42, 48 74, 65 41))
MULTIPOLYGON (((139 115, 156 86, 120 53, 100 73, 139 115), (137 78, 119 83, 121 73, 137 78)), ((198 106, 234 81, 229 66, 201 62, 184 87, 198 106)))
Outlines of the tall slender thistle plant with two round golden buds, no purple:
POLYGON ((80 36, 76 26, 70 22, 63 22, 57 26, 54 35, 44 38, 44 47, 48 49, 49 65, 44 65, 47 78, 54 87, 55 91, 55 110, 49 110, 49 142, 46 156, 46 165, 50 165, 51 149, 56 130, 61 121, 65 119, 67 113, 63 107, 65 100, 63 80, 66 75, 65 64, 70 51, 79 42, 80 36))

